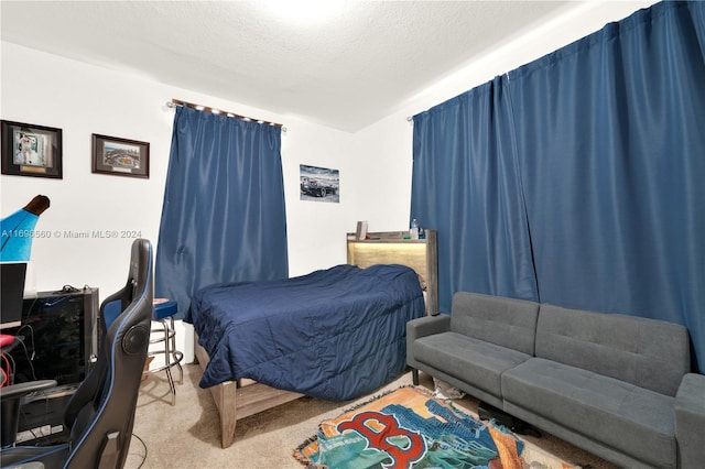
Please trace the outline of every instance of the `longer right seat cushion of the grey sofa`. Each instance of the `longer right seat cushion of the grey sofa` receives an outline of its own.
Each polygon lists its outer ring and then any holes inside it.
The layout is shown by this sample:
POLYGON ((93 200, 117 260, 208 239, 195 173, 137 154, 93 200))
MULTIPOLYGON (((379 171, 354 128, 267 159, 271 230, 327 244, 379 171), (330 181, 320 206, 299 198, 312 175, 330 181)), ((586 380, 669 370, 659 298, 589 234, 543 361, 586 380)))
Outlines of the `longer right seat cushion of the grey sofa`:
POLYGON ((501 385, 506 402, 647 463, 674 466, 673 397, 540 358, 505 372, 501 385))

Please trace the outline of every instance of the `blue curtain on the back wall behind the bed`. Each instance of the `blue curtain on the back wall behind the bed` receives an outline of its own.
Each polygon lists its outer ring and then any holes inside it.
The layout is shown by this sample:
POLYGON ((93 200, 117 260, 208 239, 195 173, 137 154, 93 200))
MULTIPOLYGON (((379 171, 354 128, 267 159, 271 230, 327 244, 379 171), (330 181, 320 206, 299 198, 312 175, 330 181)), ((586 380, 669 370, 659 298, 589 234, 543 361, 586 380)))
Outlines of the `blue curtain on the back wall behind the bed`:
POLYGON ((155 296, 183 317, 203 286, 286 276, 281 129, 177 107, 155 296))

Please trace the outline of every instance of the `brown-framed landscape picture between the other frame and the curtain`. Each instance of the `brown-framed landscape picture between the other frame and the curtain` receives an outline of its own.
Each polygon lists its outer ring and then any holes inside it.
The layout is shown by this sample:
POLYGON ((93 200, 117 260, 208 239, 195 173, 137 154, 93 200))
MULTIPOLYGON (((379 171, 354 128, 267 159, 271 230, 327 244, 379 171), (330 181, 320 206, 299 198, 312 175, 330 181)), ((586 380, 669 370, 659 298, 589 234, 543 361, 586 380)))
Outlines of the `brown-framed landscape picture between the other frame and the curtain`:
POLYGON ((150 177, 150 144, 137 140, 93 134, 94 173, 150 177))

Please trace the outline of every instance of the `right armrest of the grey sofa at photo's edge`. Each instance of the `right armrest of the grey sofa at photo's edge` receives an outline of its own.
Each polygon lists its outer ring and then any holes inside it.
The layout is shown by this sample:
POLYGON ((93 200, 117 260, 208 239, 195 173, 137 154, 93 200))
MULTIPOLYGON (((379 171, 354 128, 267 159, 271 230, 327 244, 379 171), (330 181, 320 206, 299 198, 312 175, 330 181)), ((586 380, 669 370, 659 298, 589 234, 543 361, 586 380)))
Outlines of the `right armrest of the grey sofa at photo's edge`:
POLYGON ((687 373, 683 377, 674 407, 679 467, 699 467, 705 461, 705 375, 687 373))

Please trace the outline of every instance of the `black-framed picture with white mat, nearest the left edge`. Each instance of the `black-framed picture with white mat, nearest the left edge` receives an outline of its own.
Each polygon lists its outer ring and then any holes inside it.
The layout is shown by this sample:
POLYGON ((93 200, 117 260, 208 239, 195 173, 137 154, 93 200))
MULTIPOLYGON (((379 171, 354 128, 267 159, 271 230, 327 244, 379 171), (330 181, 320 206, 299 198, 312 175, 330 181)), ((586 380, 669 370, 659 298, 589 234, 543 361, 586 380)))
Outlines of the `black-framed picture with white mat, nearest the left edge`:
POLYGON ((2 174, 62 178, 62 130, 1 121, 2 174))

